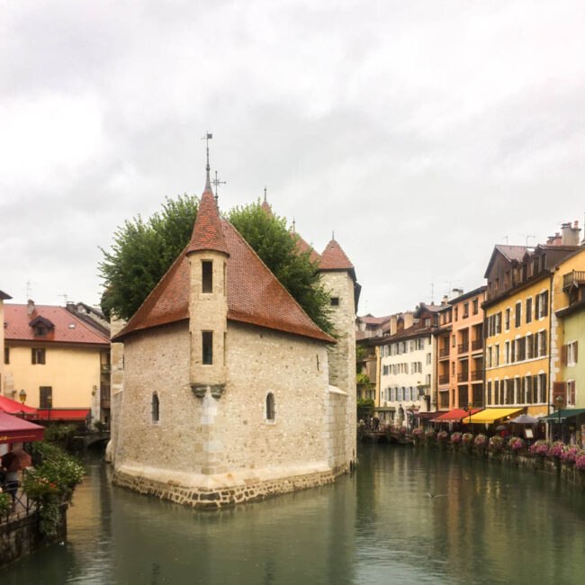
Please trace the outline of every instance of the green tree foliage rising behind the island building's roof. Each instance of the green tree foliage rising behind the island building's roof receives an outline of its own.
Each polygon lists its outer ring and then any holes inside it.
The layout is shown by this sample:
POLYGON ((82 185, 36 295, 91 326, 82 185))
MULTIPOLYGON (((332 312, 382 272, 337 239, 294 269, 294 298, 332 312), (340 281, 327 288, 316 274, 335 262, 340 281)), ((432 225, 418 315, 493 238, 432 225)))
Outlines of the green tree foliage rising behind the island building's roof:
MULTIPOLYGON (((106 315, 128 320, 139 309, 189 242, 197 204, 194 196, 167 197, 162 211, 147 221, 138 216, 114 232, 112 249, 102 248, 99 264, 106 315)), ((229 211, 228 218, 311 320, 332 333, 329 293, 310 252, 298 253, 298 237, 291 237, 286 220, 267 214, 259 202, 229 211)))

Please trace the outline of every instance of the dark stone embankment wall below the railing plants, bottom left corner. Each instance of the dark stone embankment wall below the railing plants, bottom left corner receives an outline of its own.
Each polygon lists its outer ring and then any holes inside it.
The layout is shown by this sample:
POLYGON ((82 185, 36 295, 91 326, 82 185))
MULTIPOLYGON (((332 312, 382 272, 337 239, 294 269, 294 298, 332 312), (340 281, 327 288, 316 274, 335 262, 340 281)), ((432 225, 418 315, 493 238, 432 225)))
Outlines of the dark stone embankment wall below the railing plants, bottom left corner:
POLYGON ((61 507, 61 519, 58 524, 57 536, 47 539, 40 535, 38 515, 36 512, 28 516, 10 518, 0 523, 0 567, 13 563, 27 554, 31 554, 42 545, 65 540, 67 536, 67 506, 61 507))

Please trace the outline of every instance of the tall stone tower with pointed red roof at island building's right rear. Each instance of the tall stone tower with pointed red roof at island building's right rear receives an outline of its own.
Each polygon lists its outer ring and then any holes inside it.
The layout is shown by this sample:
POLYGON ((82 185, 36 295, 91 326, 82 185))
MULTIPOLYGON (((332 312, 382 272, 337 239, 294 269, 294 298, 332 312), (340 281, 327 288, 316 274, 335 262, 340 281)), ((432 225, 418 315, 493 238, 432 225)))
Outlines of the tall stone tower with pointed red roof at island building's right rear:
POLYGON ((361 287, 356 270, 332 238, 320 257, 320 279, 331 297, 338 343, 329 347, 329 384, 347 392, 347 457, 356 459, 356 311, 361 287))

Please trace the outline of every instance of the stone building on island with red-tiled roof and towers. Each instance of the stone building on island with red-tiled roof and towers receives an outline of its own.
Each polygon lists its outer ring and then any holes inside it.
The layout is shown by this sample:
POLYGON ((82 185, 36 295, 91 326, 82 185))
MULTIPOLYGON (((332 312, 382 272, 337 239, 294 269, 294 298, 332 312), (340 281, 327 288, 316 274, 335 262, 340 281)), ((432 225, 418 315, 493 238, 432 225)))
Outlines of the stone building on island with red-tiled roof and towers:
POLYGON ((320 256, 336 338, 220 216, 209 166, 188 246, 112 338, 113 481, 210 508, 332 482, 356 459, 356 284, 320 256))

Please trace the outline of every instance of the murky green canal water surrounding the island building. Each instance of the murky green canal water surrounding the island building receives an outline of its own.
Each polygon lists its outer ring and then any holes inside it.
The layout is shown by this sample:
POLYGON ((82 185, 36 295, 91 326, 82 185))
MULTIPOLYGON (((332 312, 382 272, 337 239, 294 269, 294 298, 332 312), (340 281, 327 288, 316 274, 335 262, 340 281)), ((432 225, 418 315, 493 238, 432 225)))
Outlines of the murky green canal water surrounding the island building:
POLYGON ((89 462, 67 542, 0 570, 2 585, 585 582, 583 494, 464 455, 362 446, 351 477, 220 512, 110 473, 89 462))

